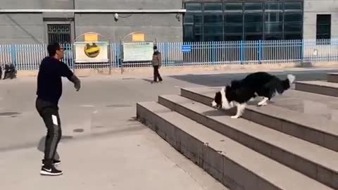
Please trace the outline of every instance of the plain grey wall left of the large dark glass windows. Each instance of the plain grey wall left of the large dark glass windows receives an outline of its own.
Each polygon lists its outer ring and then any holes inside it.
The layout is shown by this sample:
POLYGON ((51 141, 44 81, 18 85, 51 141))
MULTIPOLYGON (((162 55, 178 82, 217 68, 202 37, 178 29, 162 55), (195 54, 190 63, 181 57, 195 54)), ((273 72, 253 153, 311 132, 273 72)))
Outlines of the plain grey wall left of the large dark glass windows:
MULTIPOLYGON (((4 9, 181 9, 181 0, 1 0, 4 9)), ((0 10, 1 12, 1 10, 0 10)), ((146 40, 182 41, 182 15, 177 13, 0 13, 0 44, 73 42, 84 32, 97 32, 120 42, 131 32, 146 40)))

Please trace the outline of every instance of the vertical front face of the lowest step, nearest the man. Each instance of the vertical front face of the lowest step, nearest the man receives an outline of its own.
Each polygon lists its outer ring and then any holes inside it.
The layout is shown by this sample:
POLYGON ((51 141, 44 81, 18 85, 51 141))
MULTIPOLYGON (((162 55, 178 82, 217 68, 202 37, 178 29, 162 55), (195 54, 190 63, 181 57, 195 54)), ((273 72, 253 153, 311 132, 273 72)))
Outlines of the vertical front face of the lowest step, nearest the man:
POLYGON ((139 104, 137 119, 230 189, 280 190, 139 104))

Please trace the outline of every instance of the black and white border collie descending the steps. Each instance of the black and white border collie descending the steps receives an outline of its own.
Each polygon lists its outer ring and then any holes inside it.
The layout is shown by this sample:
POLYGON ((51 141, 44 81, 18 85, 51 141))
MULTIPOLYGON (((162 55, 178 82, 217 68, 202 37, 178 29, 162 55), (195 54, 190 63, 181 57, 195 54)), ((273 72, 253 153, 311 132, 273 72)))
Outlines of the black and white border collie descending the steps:
POLYGON ((277 93, 282 94, 289 89, 295 79, 294 75, 287 75, 286 80, 280 80, 268 72, 254 72, 242 80, 232 80, 231 86, 227 85, 216 92, 211 105, 226 110, 237 106, 237 114, 231 118, 239 118, 244 113, 248 101, 261 96, 263 100, 258 103, 258 106, 265 106, 277 93))

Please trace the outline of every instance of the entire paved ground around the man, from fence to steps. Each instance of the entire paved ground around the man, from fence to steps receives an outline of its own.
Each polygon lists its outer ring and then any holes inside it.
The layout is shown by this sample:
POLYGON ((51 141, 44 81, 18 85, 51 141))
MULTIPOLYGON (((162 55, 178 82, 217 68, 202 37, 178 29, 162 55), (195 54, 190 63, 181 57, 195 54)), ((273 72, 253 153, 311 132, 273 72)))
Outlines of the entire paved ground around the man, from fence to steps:
MULTIPOLYGON (((287 72, 298 80, 325 80, 327 70, 287 72)), ((225 189, 139 124, 135 103, 178 94, 180 87, 220 86, 243 76, 175 75, 164 77, 162 84, 150 84, 151 77, 96 76, 82 78, 79 92, 65 80, 60 104, 63 141, 58 151, 65 175, 58 178, 39 176, 46 130, 35 110, 35 78, 0 81, 1 187, 225 189)))

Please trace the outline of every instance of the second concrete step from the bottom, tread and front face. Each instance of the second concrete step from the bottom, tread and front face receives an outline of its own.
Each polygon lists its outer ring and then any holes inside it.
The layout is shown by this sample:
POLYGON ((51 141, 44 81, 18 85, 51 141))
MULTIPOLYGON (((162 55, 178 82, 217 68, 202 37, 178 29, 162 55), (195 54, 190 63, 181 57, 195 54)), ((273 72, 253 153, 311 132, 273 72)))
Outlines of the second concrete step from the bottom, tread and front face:
POLYGON ((338 153, 178 95, 158 97, 158 103, 192 118, 308 177, 338 189, 338 153))

